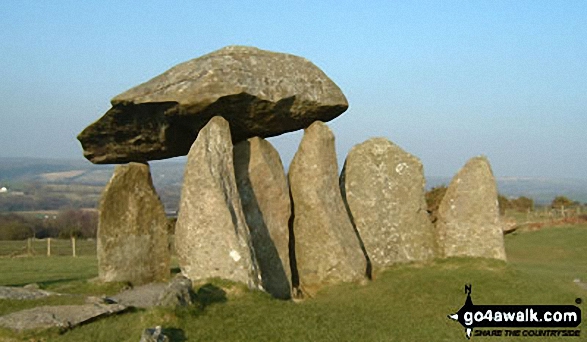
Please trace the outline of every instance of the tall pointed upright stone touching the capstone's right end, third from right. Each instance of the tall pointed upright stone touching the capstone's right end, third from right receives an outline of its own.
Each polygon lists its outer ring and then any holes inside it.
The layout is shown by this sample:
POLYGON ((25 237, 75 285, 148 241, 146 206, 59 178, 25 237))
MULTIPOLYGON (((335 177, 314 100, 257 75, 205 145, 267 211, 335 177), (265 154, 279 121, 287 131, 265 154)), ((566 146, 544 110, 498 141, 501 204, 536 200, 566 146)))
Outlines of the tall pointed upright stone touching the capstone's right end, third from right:
POLYGON ((289 169, 299 285, 315 294, 327 284, 365 277, 366 258, 342 201, 334 135, 314 122, 289 169))

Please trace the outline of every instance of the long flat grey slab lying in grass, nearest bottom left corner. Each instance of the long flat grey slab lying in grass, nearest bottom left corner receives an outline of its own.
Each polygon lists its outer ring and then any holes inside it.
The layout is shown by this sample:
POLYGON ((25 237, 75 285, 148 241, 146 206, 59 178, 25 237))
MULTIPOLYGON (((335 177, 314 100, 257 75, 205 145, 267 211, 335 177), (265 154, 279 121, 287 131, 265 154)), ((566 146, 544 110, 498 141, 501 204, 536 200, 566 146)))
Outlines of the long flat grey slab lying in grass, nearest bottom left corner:
POLYGON ((16 331, 49 328, 67 330, 124 310, 126 307, 119 304, 39 306, 0 317, 0 327, 16 331))

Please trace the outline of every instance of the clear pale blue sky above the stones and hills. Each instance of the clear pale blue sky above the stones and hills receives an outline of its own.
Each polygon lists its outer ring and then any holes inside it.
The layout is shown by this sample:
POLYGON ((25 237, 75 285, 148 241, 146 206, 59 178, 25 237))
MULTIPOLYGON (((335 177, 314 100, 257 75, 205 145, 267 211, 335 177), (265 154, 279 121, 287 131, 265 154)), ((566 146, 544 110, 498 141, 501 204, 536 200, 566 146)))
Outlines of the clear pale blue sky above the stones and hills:
MULTIPOLYGON (((587 178, 587 1, 0 2, 0 156, 82 158, 115 95, 226 45, 306 57, 350 108, 339 163, 369 137, 452 176, 587 178)), ((271 141, 285 164, 300 133, 271 141)))

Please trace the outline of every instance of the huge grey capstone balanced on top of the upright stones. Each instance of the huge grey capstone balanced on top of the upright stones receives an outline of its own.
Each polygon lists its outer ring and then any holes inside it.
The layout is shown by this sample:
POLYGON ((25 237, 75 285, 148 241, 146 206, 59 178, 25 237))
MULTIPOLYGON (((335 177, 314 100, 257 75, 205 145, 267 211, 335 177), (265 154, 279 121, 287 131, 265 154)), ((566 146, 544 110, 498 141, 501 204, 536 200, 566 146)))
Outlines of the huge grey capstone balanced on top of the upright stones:
POLYGON ((310 61, 253 47, 229 46, 179 64, 111 101, 78 136, 93 163, 181 156, 216 115, 234 143, 329 121, 348 103, 310 61))

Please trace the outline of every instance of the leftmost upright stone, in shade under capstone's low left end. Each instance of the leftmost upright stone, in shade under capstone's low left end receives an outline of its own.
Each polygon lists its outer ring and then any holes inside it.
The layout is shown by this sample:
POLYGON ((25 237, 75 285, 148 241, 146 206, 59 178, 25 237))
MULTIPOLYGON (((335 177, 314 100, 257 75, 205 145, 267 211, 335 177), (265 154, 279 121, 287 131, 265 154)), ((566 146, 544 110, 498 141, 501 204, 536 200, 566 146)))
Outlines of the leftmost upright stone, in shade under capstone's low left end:
POLYGON ((134 285, 169 277, 167 218, 148 164, 114 169, 100 202, 99 278, 134 285))

